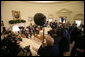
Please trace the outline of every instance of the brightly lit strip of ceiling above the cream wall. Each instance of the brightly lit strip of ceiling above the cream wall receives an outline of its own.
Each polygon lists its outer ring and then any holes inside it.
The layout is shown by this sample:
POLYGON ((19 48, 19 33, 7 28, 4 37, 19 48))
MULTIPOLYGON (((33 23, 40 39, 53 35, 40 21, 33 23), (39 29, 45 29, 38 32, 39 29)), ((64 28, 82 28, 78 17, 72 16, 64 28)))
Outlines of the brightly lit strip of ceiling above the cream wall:
POLYGON ((52 5, 52 4, 71 4, 71 3, 75 3, 75 2, 80 2, 80 1, 22 1, 25 3, 29 3, 29 4, 36 4, 36 5, 52 5))

